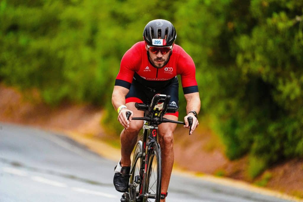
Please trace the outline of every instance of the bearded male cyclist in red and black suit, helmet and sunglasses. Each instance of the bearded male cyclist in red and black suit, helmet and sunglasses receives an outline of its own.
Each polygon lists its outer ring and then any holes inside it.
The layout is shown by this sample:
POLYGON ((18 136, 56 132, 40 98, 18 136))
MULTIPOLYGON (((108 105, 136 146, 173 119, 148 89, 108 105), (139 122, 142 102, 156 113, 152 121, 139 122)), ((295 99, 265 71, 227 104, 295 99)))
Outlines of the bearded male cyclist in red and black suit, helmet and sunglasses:
MULTIPOLYGON (((178 107, 178 78, 187 101, 187 117, 193 118, 191 133, 198 126, 200 97, 195 79, 195 64, 191 57, 175 44, 176 30, 171 22, 163 19, 148 22, 143 31, 144 41, 133 45, 122 57, 112 94, 112 104, 118 111, 118 121, 125 128, 120 136, 121 160, 115 167, 116 190, 128 190, 131 153, 143 121, 132 121, 132 117, 143 117, 144 112, 135 108, 135 102, 150 104, 155 94, 171 96, 169 107, 178 107), (129 120, 126 112, 132 113, 129 120)), ((178 120, 178 111, 165 114, 165 118, 178 120)), ((162 123, 158 126, 162 158, 161 194, 167 195, 168 184, 174 163, 173 132, 177 124, 162 123)), ((161 200, 161 202, 165 201, 161 200)))

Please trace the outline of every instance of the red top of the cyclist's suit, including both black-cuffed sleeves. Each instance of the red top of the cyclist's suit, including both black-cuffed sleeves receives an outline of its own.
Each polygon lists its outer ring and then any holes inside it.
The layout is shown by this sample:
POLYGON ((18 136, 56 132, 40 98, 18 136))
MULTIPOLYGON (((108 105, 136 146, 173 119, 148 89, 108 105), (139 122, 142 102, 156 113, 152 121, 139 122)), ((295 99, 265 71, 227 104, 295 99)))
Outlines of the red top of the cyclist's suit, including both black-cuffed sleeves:
POLYGON ((132 48, 126 51, 121 60, 120 71, 115 85, 129 89, 135 73, 143 78, 141 81, 146 86, 151 81, 153 81, 152 83, 161 83, 161 81, 168 81, 176 77, 176 75, 181 75, 184 94, 198 92, 194 61, 181 46, 176 44, 168 63, 163 68, 155 68, 151 65, 144 41, 133 45, 132 48))

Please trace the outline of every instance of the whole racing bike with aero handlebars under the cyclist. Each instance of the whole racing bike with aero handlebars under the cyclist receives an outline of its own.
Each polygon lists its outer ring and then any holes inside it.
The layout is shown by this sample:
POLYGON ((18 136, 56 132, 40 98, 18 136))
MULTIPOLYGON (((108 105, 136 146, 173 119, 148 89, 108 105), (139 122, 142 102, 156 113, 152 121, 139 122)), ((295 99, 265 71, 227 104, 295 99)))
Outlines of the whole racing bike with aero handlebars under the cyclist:
MULTIPOLYGON (((144 117, 132 118, 132 120, 144 120, 143 137, 135 146, 129 188, 128 192, 122 194, 122 202, 159 202, 166 197, 167 193, 161 193, 161 149, 158 143, 158 125, 167 122, 185 125, 185 122, 163 117, 166 113, 175 113, 178 110, 178 108, 169 108, 169 101, 170 95, 156 94, 149 106, 135 103, 138 110, 144 111, 144 117)), ((127 117, 129 118, 130 115, 128 112, 127 117)), ((191 126, 192 117, 188 117, 188 122, 191 126)))

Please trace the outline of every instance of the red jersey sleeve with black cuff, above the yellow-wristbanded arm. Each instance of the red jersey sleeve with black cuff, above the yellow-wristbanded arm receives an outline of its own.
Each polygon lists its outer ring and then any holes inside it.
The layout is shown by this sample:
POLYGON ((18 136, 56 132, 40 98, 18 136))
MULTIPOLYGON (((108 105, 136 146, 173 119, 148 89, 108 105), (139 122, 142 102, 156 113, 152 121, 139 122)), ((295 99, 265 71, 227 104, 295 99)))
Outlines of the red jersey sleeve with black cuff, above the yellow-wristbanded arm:
POLYGON ((120 70, 116 77, 115 86, 130 88, 135 71, 140 68, 141 50, 139 43, 135 44, 123 55, 120 70))

